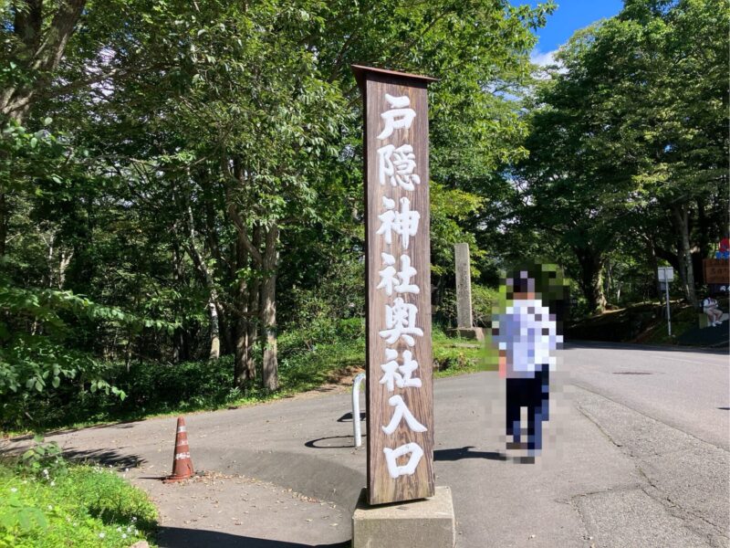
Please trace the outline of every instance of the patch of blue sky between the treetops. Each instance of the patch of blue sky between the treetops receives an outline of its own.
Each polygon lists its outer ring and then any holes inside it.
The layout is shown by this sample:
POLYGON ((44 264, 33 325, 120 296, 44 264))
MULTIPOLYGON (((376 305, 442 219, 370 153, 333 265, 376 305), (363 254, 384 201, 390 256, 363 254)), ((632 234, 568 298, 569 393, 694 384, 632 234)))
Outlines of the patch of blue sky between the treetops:
MULTIPOLYGON (((535 6, 537 0, 510 0, 513 5, 535 6)), ((547 24, 537 31, 537 47, 532 58, 538 64, 545 64, 553 52, 565 44, 579 28, 589 26, 604 17, 615 16, 623 7, 621 0, 556 0, 558 8, 547 17, 547 24)))

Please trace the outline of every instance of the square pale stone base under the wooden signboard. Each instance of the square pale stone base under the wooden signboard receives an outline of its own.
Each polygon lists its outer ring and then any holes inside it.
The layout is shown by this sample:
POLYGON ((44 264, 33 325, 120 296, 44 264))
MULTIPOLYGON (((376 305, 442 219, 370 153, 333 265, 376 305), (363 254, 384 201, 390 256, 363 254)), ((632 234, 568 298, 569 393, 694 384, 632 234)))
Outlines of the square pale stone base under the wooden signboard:
POLYGON ((352 548, 454 548, 456 520, 451 488, 436 487, 430 499, 370 506, 367 493, 352 514, 352 548))

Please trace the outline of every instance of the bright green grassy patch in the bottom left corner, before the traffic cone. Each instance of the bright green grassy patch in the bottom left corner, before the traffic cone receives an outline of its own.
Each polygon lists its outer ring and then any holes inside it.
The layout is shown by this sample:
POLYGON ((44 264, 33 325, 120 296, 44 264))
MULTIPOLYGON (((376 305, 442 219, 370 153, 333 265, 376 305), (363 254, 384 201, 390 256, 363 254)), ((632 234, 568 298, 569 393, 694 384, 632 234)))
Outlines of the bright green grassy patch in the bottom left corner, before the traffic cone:
POLYGON ((130 546, 151 543, 156 527, 147 495, 110 469, 68 464, 34 473, 0 460, 0 547, 130 546))

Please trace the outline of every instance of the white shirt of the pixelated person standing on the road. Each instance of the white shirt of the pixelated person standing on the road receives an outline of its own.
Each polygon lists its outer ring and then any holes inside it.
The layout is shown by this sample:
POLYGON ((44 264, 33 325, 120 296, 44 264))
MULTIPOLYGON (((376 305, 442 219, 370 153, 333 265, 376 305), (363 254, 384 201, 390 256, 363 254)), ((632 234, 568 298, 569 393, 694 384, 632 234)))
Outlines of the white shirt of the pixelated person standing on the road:
POLYGON ((542 365, 555 371, 555 356, 550 353, 563 336, 558 335, 555 315, 542 300, 514 300, 505 312, 495 315, 492 327, 499 330, 492 340, 506 351, 507 377, 533 378, 542 365))

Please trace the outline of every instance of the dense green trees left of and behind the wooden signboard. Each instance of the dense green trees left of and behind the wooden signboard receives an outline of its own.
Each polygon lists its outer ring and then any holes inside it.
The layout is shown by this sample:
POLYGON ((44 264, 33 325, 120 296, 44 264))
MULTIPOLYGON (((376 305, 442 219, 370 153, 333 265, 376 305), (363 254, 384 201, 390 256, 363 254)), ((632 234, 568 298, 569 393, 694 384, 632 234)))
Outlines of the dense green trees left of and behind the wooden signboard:
POLYGON ((104 364, 233 354, 237 386, 275 390, 278 331, 359 316, 355 62, 440 78, 433 274, 443 287, 455 241, 486 256, 476 219, 504 191, 498 166, 525 154, 525 122, 505 94, 527 82, 530 29, 550 9, 4 3, 5 378, 27 391, 103 380, 104 364))

